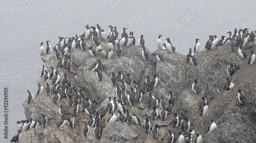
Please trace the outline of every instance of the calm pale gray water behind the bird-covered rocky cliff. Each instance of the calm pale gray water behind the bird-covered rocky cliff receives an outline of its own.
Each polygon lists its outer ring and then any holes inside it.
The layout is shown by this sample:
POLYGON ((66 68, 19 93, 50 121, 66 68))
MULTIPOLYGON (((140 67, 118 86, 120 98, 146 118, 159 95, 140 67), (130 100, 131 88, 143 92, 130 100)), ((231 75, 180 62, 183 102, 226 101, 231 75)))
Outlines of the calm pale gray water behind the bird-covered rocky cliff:
MULTIPOLYGON (((100 24, 106 32, 108 25, 116 25, 119 33, 133 31, 136 41, 144 35, 145 46, 156 50, 158 35, 170 38, 176 51, 187 54, 201 39, 201 47, 208 35, 218 37, 234 28, 256 30, 255 1, 3 1, 1 9, 1 142, 9 142, 16 132, 16 121, 24 120, 22 102, 27 90, 37 91, 41 65, 40 42, 58 42, 58 36, 82 34, 86 24, 100 24), (8 90, 8 139, 4 139, 4 88, 8 90), (2 141, 3 140, 3 141, 2 141)), ((121 34, 120 34, 121 35, 121 34)), ((137 44, 137 43, 136 43, 137 44)), ((46 47, 46 46, 45 46, 46 47)), ((201 48, 202 50, 202 48, 201 48)))

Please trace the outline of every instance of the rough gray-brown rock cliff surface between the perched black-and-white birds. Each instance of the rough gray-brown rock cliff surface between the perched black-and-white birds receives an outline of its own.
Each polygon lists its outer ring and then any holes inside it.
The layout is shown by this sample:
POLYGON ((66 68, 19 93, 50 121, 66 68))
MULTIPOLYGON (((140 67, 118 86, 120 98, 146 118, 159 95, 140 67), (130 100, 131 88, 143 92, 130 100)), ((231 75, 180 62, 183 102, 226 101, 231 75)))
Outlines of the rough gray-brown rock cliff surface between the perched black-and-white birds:
MULTIPOLYGON (((87 45, 92 45, 92 41, 86 42, 87 45)), ((107 43, 101 42, 101 46, 108 51, 107 43)), ((254 43, 248 45, 247 54, 250 53, 251 48, 255 49, 254 43)), ((68 98, 61 98, 58 103, 54 103, 53 94, 49 96, 44 91, 30 104, 27 100, 24 101, 23 106, 27 119, 40 120, 40 113, 44 113, 49 119, 48 125, 45 128, 39 126, 37 129, 23 132, 19 136, 19 142, 167 142, 167 129, 174 133, 174 142, 177 142, 181 126, 174 127, 171 124, 174 112, 178 113, 180 119, 185 116, 188 117, 188 121, 191 123, 190 128, 203 136, 203 142, 254 142, 256 138, 256 66, 255 64, 247 65, 248 59, 241 59, 237 50, 232 53, 228 46, 221 46, 214 51, 204 50, 196 53, 198 66, 191 63, 187 64, 185 62, 186 55, 177 52, 168 53, 164 49, 154 51, 164 55, 164 61, 161 62, 158 62, 156 56, 151 55, 150 51, 148 51, 150 60, 144 61, 140 46, 122 47, 122 50, 121 58, 118 58, 114 50, 113 57, 106 59, 100 55, 91 57, 88 47, 86 51, 74 48, 70 52, 73 63, 71 71, 63 68, 57 69, 61 77, 67 73, 71 85, 76 89, 82 89, 82 93, 86 97, 101 102, 97 109, 102 118, 102 135, 99 138, 94 136, 94 127, 90 127, 89 135, 83 136, 83 121, 88 122, 90 117, 86 112, 82 112, 82 108, 79 108, 79 112, 74 116, 74 128, 68 125, 57 128, 57 123, 61 119, 58 113, 59 105, 63 105, 69 111, 72 111, 73 106, 68 105, 68 98), (88 70, 97 60, 101 60, 105 66, 102 71, 102 81, 97 79, 95 71, 88 70), (236 70, 236 73, 230 78, 231 82, 234 83, 234 89, 223 92, 223 85, 226 78, 229 77, 226 68, 230 63, 234 63, 236 70), (158 74, 157 87, 144 93, 141 102, 135 102, 134 105, 124 105, 130 113, 135 113, 138 116, 141 125, 120 121, 108 123, 108 119, 111 117, 106 110, 109 102, 108 97, 116 96, 116 87, 111 83, 110 75, 112 72, 118 74, 118 71, 122 71, 123 79, 126 78, 126 73, 131 73, 136 81, 132 85, 127 85, 128 91, 130 91, 128 87, 133 85, 140 84, 142 86, 147 75, 153 79, 153 75, 158 74), (199 94, 192 91, 191 85, 194 83, 194 79, 197 79, 201 89, 199 94), (243 107, 237 105, 238 89, 241 89, 246 95, 246 102, 243 107), (155 124, 159 125, 159 135, 157 138, 153 138, 152 134, 145 133, 143 128, 145 114, 151 116, 153 111, 153 108, 147 105, 147 99, 149 93, 152 92, 155 98, 160 100, 161 95, 164 95, 168 101, 168 91, 172 91, 176 97, 174 111, 167 115, 166 120, 161 120, 160 117, 157 120, 148 119, 152 127, 155 124), (198 106, 202 97, 207 99, 209 107, 204 117, 200 115, 198 106), (211 124, 210 119, 214 119, 217 128, 208 133, 208 127, 211 124)), ((42 55, 41 58, 45 61, 47 69, 50 69, 50 66, 56 68, 58 60, 53 52, 42 55)), ((47 79, 47 81, 53 87, 52 79, 47 79)), ((46 84, 44 78, 39 78, 38 82, 44 86, 46 84)), ((120 85, 121 82, 118 84, 120 85)), ((157 109, 160 112, 161 107, 158 105, 157 109)), ((114 113, 118 115, 116 111, 114 113)), ((92 113, 92 116, 95 117, 95 113, 92 113)), ((187 133, 182 131, 182 134, 186 136, 187 133)), ((193 137, 193 142, 195 139, 196 135, 193 137)))

